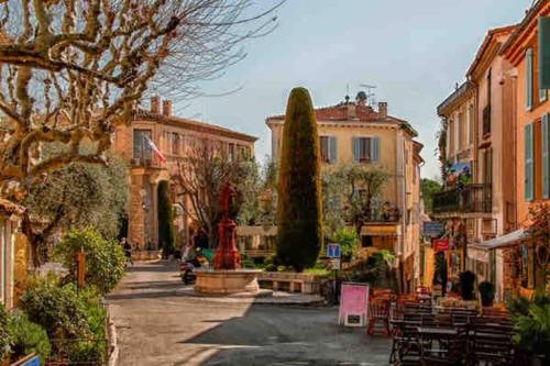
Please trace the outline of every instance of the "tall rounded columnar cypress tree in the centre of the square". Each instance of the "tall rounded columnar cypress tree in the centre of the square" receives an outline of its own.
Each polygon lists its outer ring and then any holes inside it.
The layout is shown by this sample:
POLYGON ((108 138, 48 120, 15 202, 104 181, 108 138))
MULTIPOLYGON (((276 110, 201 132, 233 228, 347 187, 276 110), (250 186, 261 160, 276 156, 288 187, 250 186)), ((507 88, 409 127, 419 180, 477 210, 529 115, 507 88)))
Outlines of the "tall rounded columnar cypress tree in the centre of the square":
POLYGON ((277 257, 296 270, 314 266, 322 243, 319 135, 309 92, 288 98, 280 153, 277 257))

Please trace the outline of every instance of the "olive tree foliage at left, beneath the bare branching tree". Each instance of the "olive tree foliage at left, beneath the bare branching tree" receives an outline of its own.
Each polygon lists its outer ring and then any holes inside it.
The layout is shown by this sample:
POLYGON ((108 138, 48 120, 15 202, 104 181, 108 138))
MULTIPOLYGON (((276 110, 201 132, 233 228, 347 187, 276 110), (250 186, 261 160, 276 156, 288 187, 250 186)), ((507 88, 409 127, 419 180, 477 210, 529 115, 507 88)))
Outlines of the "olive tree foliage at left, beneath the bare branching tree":
POLYGON ((24 206, 32 217, 57 229, 97 228, 108 239, 116 239, 128 214, 128 166, 114 154, 107 165, 72 163, 33 180, 24 206))

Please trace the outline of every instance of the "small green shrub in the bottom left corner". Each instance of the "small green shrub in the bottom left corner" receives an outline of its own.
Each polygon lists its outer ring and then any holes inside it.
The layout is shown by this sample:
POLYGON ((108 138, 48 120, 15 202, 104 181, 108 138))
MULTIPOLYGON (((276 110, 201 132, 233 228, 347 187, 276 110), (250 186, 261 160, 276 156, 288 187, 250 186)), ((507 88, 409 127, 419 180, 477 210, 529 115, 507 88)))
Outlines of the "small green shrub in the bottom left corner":
POLYGON ((9 330, 13 337, 12 359, 35 353, 44 364, 52 352, 44 328, 31 322, 24 313, 18 312, 10 317, 9 330))

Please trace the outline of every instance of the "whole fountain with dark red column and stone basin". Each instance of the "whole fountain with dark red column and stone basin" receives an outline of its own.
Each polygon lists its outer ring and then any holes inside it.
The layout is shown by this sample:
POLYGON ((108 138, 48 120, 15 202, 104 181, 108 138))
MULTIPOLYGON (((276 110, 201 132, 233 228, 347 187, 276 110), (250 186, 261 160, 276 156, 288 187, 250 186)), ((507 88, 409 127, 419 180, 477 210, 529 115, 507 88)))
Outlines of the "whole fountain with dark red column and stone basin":
POLYGON ((237 224, 229 217, 233 190, 230 185, 223 187, 221 207, 223 219, 218 226, 219 243, 213 258, 213 269, 195 269, 197 282, 195 292, 199 295, 244 295, 261 293, 257 284, 260 269, 243 269, 241 255, 237 248, 237 224))

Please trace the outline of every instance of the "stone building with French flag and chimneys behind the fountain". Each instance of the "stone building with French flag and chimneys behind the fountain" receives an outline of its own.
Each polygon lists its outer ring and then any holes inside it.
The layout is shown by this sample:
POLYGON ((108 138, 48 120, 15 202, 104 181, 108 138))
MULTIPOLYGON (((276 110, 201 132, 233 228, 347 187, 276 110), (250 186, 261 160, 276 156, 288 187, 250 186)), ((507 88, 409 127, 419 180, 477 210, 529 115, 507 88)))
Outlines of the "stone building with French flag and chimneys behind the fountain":
POLYGON ((157 188, 163 180, 169 181, 173 195, 175 225, 178 244, 189 240, 194 223, 184 208, 188 198, 178 195, 177 182, 170 173, 177 169, 189 146, 199 141, 210 141, 229 158, 239 155, 253 156, 257 138, 213 124, 178 118, 172 113, 172 101, 151 99, 150 110, 138 110, 129 126, 114 132, 114 151, 130 164, 130 208, 128 240, 139 248, 158 247, 157 188), (150 142, 158 149, 155 153, 150 142))

